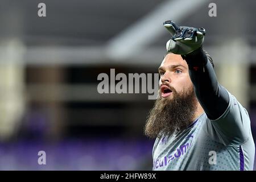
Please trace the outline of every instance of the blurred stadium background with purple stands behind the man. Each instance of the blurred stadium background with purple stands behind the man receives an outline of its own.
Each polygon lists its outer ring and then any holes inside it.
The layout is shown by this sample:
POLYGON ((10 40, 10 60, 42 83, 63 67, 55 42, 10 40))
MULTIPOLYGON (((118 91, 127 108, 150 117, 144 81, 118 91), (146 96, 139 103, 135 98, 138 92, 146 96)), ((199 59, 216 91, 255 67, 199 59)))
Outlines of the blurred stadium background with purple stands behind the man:
POLYGON ((148 94, 99 94, 97 76, 157 73, 164 20, 204 27, 218 80, 256 137, 254 0, 0 0, 0 169, 151 170, 148 94), (39 18, 38 4, 46 3, 39 18), (217 16, 209 17, 209 3, 217 16), (38 164, 38 151, 47 164, 38 164))

